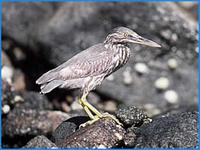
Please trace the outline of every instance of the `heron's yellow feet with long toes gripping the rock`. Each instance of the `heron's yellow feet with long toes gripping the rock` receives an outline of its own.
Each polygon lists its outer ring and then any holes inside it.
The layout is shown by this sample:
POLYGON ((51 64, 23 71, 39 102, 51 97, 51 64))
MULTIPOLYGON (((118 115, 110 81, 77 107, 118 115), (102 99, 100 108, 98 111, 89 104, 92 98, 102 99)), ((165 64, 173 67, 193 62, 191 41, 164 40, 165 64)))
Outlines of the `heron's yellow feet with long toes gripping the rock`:
POLYGON ((81 124, 79 127, 81 128, 81 127, 86 127, 87 125, 91 125, 91 124, 93 124, 94 122, 98 121, 98 120, 101 119, 101 118, 111 118, 111 119, 114 120, 118 125, 123 126, 123 124, 120 123, 119 120, 118 120, 114 115, 111 115, 111 114, 109 114, 109 113, 103 113, 103 114, 101 114, 100 117, 96 115, 96 116, 94 116, 94 118, 93 118, 92 120, 89 120, 89 121, 87 121, 87 122, 81 124))

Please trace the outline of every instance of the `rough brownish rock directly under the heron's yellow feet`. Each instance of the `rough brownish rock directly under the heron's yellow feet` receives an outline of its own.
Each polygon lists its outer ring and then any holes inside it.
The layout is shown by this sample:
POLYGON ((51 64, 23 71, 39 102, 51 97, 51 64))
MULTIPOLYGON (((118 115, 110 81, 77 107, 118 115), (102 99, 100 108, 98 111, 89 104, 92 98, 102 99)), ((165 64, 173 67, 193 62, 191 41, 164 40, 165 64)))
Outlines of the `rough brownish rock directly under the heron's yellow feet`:
POLYGON ((112 148, 123 140, 125 130, 110 118, 99 119, 57 143, 61 148, 112 148))

